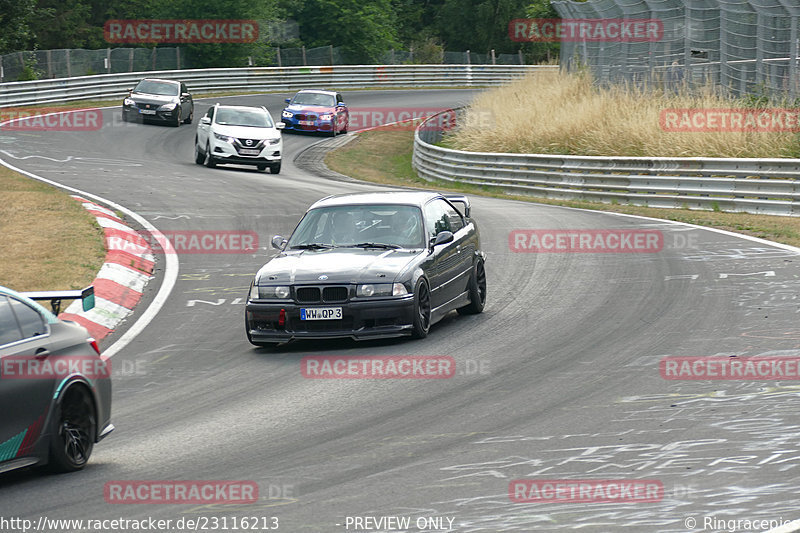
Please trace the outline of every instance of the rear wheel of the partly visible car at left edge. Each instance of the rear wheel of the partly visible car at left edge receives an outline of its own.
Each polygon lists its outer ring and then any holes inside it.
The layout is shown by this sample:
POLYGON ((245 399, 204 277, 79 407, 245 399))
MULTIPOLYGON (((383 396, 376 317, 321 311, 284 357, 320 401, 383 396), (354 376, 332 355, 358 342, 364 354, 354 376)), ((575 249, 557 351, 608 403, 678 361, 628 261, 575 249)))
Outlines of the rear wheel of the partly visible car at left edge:
POLYGON ((97 417, 89 390, 73 385, 53 411, 49 468, 74 472, 89 461, 97 435, 97 417))

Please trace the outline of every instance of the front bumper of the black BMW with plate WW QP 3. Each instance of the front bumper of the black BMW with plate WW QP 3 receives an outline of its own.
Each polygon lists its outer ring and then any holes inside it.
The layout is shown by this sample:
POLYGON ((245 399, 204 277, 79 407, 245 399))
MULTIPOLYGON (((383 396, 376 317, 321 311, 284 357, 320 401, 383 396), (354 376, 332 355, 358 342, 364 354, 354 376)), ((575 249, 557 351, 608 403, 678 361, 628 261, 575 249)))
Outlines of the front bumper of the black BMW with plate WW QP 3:
POLYGON ((291 301, 247 302, 245 327, 254 342, 285 342, 294 339, 356 340, 411 335, 414 295, 380 300, 359 300, 331 304, 298 304, 291 301), (341 307, 339 320, 300 320, 300 309, 341 307), (280 325, 281 310, 285 323, 280 325))

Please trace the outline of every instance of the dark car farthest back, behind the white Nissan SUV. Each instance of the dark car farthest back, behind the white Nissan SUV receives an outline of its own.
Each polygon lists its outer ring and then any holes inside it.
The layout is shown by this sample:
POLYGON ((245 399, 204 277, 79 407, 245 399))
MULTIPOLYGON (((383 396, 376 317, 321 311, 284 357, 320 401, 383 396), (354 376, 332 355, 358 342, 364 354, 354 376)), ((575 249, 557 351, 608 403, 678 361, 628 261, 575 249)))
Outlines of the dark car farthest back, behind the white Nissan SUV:
POLYGON ((145 78, 122 101, 122 120, 162 122, 175 126, 194 120, 194 100, 186 84, 145 78))

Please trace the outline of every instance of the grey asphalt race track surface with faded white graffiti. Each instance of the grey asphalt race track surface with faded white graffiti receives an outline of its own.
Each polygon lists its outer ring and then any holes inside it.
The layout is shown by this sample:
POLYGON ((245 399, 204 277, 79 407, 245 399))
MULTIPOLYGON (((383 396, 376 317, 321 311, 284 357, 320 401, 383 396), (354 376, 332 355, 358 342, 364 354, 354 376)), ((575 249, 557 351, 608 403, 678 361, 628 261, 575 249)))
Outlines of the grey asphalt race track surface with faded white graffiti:
MULTIPOLYGON (((347 97, 355 108, 401 108, 452 106, 473 95, 347 97)), ((279 116, 285 96, 219 100, 265 104, 279 116)), ((0 477, 0 516, 173 524, 277 517, 277 530, 292 533, 397 530, 353 525, 353 517, 382 516, 409 517, 408 531, 464 533, 718 531, 723 523, 710 519, 797 518, 797 382, 671 381, 658 367, 664 356, 799 355, 794 251, 666 222, 474 197, 488 253, 483 314, 453 313, 424 340, 254 348, 243 298, 271 255, 271 236, 288 235, 325 195, 379 187, 299 170, 294 157, 320 140, 310 135, 284 134, 279 175, 195 165, 197 118, 212 101, 199 101, 195 124, 179 129, 124 124, 113 109, 99 131, 0 132, 0 158, 15 166, 117 202, 162 231, 252 230, 261 248, 179 256, 169 301, 114 356, 116 431, 83 472, 0 477), (510 231, 534 228, 659 230, 664 249, 510 251, 510 231), (457 372, 306 379, 300 362, 308 355, 445 355, 457 372), (526 478, 659 480, 664 497, 511 501, 509 482, 526 478), (259 500, 107 503, 104 485, 119 480, 251 480, 259 500), (445 528, 418 528, 420 517, 445 518, 445 528)), ((159 258, 159 275, 163 264, 159 258)), ((136 316, 160 282, 150 283, 136 316)))

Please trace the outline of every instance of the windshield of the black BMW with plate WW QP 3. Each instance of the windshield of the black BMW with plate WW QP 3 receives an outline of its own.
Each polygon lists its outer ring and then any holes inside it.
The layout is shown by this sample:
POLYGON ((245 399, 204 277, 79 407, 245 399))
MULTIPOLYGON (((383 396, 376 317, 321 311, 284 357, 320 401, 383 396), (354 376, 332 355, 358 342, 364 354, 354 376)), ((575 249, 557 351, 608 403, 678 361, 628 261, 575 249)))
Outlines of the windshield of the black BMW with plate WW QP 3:
POLYGON ((424 248, 422 213, 409 205, 345 205, 312 209, 294 230, 287 249, 312 244, 347 247, 371 243, 424 248))

